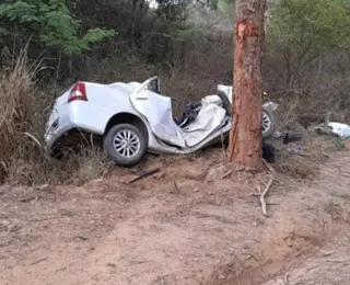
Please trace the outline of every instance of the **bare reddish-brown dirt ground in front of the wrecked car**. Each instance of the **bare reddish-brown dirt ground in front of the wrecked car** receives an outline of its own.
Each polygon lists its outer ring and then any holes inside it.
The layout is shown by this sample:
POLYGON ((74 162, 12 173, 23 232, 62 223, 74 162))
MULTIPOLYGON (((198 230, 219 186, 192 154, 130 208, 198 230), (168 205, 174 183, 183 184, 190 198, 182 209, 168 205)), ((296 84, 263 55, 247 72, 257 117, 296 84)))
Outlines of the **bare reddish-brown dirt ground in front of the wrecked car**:
MULTIPOLYGON (((308 146, 311 149, 315 146, 308 146)), ((222 150, 149 158, 81 187, 0 187, 0 284, 306 285, 350 282, 350 152, 279 153, 271 175, 222 150)))

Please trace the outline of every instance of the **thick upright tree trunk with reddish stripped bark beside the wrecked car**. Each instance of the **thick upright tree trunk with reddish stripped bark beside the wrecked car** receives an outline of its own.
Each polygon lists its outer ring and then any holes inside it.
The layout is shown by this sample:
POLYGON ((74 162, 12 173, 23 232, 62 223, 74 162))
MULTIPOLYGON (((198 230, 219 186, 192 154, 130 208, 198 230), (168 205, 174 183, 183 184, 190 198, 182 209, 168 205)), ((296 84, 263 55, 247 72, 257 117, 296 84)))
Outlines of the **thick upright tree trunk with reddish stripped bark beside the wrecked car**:
POLYGON ((229 159, 259 170, 261 159, 261 59, 266 0, 237 0, 234 31, 233 124, 229 159))

